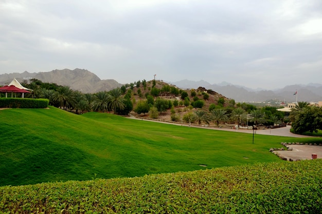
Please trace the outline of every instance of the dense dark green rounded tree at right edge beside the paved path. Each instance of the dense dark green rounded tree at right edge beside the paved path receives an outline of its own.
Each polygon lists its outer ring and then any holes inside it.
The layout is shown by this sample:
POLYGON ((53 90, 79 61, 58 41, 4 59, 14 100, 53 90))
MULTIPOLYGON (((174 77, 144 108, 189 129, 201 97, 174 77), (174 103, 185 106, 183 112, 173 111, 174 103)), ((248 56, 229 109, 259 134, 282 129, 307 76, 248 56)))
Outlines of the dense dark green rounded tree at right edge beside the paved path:
POLYGON ((322 130, 322 108, 317 106, 306 106, 298 111, 292 122, 295 133, 309 131, 311 133, 322 130))

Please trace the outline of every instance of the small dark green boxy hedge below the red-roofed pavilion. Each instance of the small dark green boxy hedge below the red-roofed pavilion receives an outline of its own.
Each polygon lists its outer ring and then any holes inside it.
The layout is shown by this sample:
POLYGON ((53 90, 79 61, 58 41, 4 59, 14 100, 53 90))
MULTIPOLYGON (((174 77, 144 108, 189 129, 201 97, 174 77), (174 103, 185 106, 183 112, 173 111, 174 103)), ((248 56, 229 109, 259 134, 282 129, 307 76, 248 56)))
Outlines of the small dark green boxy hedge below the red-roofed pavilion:
POLYGON ((0 108, 47 108, 48 99, 0 98, 0 108))

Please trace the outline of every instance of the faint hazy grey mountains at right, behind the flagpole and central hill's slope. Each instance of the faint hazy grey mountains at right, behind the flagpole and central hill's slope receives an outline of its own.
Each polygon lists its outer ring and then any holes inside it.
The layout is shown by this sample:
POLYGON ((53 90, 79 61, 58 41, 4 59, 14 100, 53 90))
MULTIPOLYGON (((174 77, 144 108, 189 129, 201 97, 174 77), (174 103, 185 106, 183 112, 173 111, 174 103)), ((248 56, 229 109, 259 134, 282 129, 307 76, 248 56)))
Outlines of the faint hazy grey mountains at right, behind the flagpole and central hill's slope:
POLYGON ((180 81, 172 83, 177 87, 186 88, 187 84, 200 84, 202 87, 207 87, 227 98, 234 99, 236 102, 264 102, 267 100, 279 100, 285 102, 295 102, 296 96, 293 95, 295 91, 297 94, 297 101, 318 102, 322 101, 322 85, 308 84, 308 85, 291 85, 285 86, 276 90, 250 89, 244 86, 236 86, 229 83, 209 84, 205 81, 180 81), (204 85, 203 85, 204 84, 204 85))

